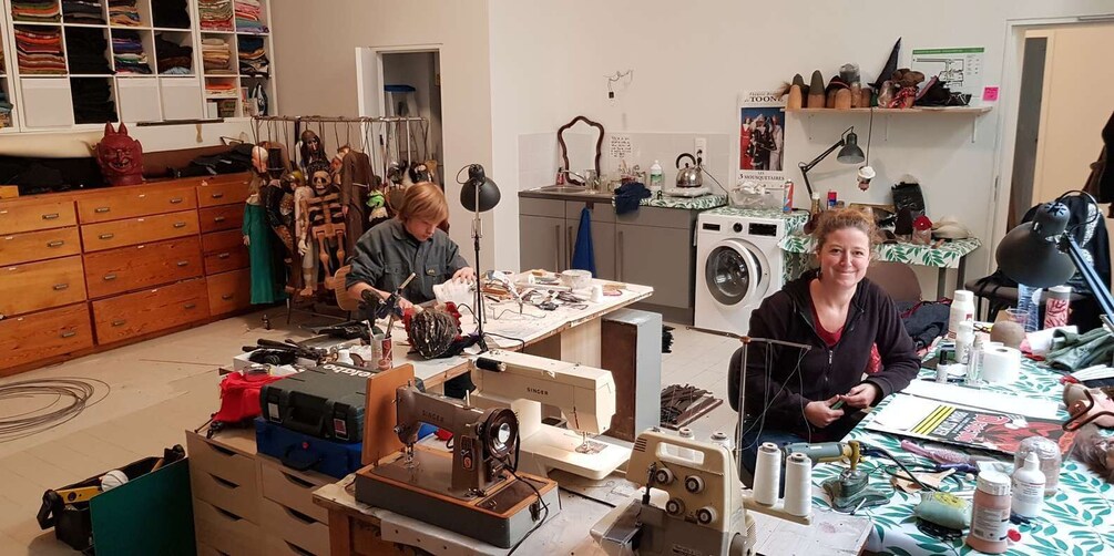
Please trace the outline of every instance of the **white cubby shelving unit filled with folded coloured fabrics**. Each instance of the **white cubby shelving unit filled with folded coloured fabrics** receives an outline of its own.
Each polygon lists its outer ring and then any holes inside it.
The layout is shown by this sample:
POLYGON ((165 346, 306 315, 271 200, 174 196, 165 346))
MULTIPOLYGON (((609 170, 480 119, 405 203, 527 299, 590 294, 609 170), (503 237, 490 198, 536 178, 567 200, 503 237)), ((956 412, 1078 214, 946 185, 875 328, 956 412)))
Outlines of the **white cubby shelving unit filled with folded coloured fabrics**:
MULTIPOLYGON (((266 96, 270 106, 267 113, 274 113, 276 99, 273 64, 270 63, 274 50, 270 33, 271 20, 267 6, 270 1, 216 0, 216 4, 224 2, 228 7, 231 19, 218 29, 211 29, 208 24, 202 27, 201 10, 202 4, 213 4, 213 0, 135 0, 138 24, 125 24, 124 21, 131 18, 119 17, 119 10, 110 10, 109 0, 97 0, 100 11, 90 13, 90 17, 80 17, 74 12, 76 4, 71 6, 70 14, 67 14, 68 0, 55 0, 53 6, 58 8, 57 21, 20 19, 16 16, 17 11, 13 11, 19 0, 4 0, 2 9, 12 17, 3 18, 0 28, 3 33, 0 49, 6 54, 4 63, 0 64, 0 90, 8 93, 9 101, 14 107, 11 127, 0 129, 0 133, 87 129, 92 126, 99 127, 106 121, 130 123, 201 119, 209 116, 246 118, 255 113, 253 109, 255 102, 245 102, 248 92, 253 90, 262 91, 262 95, 266 96), (176 2, 180 2, 184 12, 170 9, 176 8, 176 2), (244 4, 241 13, 248 19, 237 20, 236 7, 243 2, 248 3, 244 4), (250 19, 255 17, 256 3, 257 22, 252 22, 250 19), (155 20, 155 12, 159 12, 159 21, 155 20), (110 19, 110 13, 117 13, 116 20, 110 19), (183 24, 186 27, 182 27, 183 24), (59 33, 62 66, 49 75, 32 73, 29 71, 31 70, 29 66, 21 71, 17 57, 14 34, 17 29, 39 34, 59 33), (96 34, 97 32, 99 34, 96 34), (124 48, 128 52, 118 51, 121 46, 119 42, 114 46, 113 38, 119 39, 123 36, 135 37, 141 52, 127 47, 124 48), (102 38, 106 47, 104 52, 90 56, 88 46, 95 42, 94 37, 102 38), (226 72, 205 70, 202 44, 206 38, 221 38, 228 43, 229 60, 226 72), (255 76, 241 71, 238 44, 242 38, 262 40, 264 56, 268 60, 266 75, 255 76), (168 43, 174 46, 167 46, 168 43), (168 60, 166 63, 160 60, 160 44, 174 54, 174 60, 168 60), (188 47, 190 51, 187 56, 182 56, 184 52, 180 50, 175 52, 176 47, 188 47), (85 50, 75 57, 79 48, 85 50), (141 56, 135 56, 140 53, 141 56), (121 63, 123 60, 118 54, 130 54, 125 58, 139 62, 140 66, 146 63, 150 72, 146 73, 143 69, 121 63), (96 63, 100 58, 104 59, 104 64, 96 63), (184 69, 168 73, 170 67, 184 69), (127 71, 129 69, 130 72, 127 71), (111 110, 97 110, 97 115, 90 117, 81 112, 88 100, 79 97, 95 83, 98 90, 101 88, 100 83, 108 86, 107 101, 111 102, 111 110), (206 90, 206 85, 222 85, 227 92, 215 98, 206 90), (212 106, 212 111, 211 101, 218 103, 212 106)), ((88 11, 87 6, 82 4, 78 9, 88 11)))

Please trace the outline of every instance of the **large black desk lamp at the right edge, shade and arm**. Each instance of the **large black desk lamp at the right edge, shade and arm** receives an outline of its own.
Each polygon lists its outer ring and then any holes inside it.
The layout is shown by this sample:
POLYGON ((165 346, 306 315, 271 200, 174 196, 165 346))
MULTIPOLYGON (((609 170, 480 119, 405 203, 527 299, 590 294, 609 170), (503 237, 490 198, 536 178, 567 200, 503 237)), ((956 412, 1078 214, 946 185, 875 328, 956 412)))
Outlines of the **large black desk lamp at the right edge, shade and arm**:
MULTIPOLYGON (((1018 284, 1034 288, 1059 286, 1075 276, 1078 269, 1084 284, 1098 301, 1103 322, 1107 328, 1114 329, 1114 298, 1111 297, 1110 287, 1103 284, 1094 267, 1083 258, 1079 244, 1072 235, 1073 230, 1065 231, 1071 215, 1067 206, 1059 200, 1072 192, 1042 205, 1032 222, 1009 230, 998 244, 995 259, 1003 274, 1018 284)), ((1078 193, 1095 206, 1096 215, 1102 218, 1095 198, 1083 191, 1078 193)))

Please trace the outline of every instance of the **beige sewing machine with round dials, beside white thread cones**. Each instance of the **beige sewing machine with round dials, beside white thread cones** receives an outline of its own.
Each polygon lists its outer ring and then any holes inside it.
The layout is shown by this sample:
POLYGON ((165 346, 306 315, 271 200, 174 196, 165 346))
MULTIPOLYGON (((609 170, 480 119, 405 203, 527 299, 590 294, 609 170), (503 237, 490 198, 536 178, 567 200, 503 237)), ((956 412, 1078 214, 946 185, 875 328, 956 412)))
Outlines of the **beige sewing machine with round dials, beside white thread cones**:
POLYGON ((743 485, 727 448, 647 430, 635 441, 627 479, 645 487, 642 500, 616 508, 592 528, 607 554, 753 552, 754 518, 743 507, 743 485), (688 449, 695 457, 671 454, 666 446, 688 449))

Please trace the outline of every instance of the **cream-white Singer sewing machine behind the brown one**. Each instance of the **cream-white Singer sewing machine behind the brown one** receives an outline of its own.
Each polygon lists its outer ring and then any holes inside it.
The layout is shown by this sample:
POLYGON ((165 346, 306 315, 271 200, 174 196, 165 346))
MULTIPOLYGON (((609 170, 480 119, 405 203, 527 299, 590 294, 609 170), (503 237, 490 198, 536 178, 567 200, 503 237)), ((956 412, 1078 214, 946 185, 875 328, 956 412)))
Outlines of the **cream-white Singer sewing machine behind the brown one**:
POLYGON ((631 458, 631 449, 592 440, 615 415, 615 380, 609 370, 514 351, 492 350, 472 361, 482 407, 510 407, 521 438, 519 468, 536 475, 563 469, 602 479, 631 458), (541 405, 555 406, 568 428, 543 423, 541 405))

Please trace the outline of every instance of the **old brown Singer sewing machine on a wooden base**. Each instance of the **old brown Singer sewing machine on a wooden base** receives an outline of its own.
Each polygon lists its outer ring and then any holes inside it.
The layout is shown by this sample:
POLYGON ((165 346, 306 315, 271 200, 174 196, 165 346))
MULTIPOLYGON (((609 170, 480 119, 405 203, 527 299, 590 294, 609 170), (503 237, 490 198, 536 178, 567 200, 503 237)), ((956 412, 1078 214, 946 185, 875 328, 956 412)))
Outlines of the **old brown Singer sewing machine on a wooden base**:
POLYGON ((403 449, 356 471, 356 500, 502 548, 560 512, 557 483, 516 473, 511 410, 482 410, 408 385, 395 391, 395 413, 403 449), (416 445, 422 423, 453 434, 451 454, 416 445))

